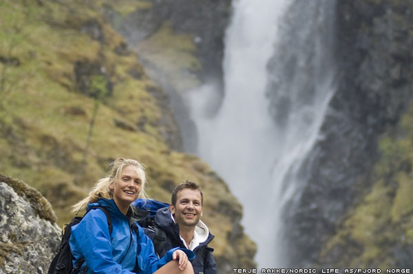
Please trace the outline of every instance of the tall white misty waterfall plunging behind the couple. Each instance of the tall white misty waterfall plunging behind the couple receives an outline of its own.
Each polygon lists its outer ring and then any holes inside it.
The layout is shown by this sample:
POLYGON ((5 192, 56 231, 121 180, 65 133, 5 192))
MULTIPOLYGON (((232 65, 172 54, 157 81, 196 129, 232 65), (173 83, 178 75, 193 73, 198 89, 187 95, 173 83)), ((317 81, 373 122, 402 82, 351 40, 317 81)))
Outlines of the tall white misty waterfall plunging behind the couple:
POLYGON ((219 100, 213 83, 188 93, 198 155, 244 206, 262 268, 285 266, 282 210, 299 197, 297 172, 334 92, 331 3, 233 1, 219 111, 209 111, 219 100))

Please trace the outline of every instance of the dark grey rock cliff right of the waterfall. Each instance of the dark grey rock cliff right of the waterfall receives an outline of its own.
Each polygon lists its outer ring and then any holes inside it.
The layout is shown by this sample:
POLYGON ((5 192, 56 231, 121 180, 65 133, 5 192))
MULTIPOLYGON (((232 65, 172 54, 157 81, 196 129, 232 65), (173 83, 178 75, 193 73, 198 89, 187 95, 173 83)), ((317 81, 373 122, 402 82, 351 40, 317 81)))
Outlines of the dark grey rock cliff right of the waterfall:
MULTIPOLYGON (((382 157, 379 137, 392 130, 390 126, 398 124, 409 107, 413 84, 412 8, 402 1, 337 1, 338 89, 321 129, 324 139, 303 165, 307 183, 302 196, 290 204, 285 216, 292 243, 290 264, 379 266, 386 258, 388 266, 401 265, 396 252, 366 254, 366 259, 352 260, 368 249, 359 238, 341 238, 339 245, 327 242, 333 236, 354 232, 346 220, 354 215, 356 205, 366 203, 372 186, 381 181, 375 168, 382 157), (346 226, 350 231, 342 230, 346 226), (321 249, 334 252, 320 253, 321 249), (352 253, 354 250, 357 252, 352 253)), ((396 190, 394 183, 388 183, 396 190)), ((370 227, 387 230, 374 222, 370 227)), ((395 244, 400 231, 393 233, 390 242, 395 244)), ((382 242, 376 247, 384 250, 387 246, 382 242)))

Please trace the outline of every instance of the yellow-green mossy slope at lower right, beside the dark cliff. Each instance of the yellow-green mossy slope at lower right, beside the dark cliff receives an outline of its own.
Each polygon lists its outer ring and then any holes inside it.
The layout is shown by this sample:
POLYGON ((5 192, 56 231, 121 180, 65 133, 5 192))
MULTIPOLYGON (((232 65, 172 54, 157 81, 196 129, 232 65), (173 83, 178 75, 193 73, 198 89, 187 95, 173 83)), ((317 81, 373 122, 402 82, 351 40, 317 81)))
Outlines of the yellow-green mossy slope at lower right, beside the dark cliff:
POLYGON ((413 247, 413 105, 379 142, 375 181, 343 218, 321 261, 341 267, 401 267, 397 252, 413 247))

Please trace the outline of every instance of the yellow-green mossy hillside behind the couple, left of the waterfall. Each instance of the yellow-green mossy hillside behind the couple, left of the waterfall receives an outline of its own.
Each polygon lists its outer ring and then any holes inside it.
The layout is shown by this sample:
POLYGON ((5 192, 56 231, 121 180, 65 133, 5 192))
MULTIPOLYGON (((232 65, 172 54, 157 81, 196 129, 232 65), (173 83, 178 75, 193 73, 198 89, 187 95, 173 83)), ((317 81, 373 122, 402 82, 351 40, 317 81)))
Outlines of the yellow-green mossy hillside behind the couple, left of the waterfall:
MULTIPOLYGON (((145 1, 132 2, 116 8, 147 8, 145 1)), ((228 242, 239 226, 240 203, 200 159, 171 150, 166 139, 175 125, 165 119, 169 109, 160 108, 167 105, 159 100, 165 94, 106 23, 107 5, 115 3, 0 2, 0 172, 36 187, 52 203, 59 225, 72 218, 70 205, 116 157, 145 163, 149 196, 163 201, 174 185, 193 179, 205 192, 215 257, 253 266, 255 244, 242 229, 237 243, 228 242)))

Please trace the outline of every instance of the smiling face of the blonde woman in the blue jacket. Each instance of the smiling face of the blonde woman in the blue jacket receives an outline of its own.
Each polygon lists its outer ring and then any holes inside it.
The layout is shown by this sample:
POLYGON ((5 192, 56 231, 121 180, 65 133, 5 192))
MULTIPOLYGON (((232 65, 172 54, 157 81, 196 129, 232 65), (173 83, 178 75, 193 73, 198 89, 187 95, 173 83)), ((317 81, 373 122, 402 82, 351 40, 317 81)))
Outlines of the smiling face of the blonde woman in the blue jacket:
POLYGON ((138 198, 141 186, 142 179, 136 172, 136 168, 133 165, 123 168, 120 180, 109 186, 120 212, 126 214, 129 205, 138 198))

